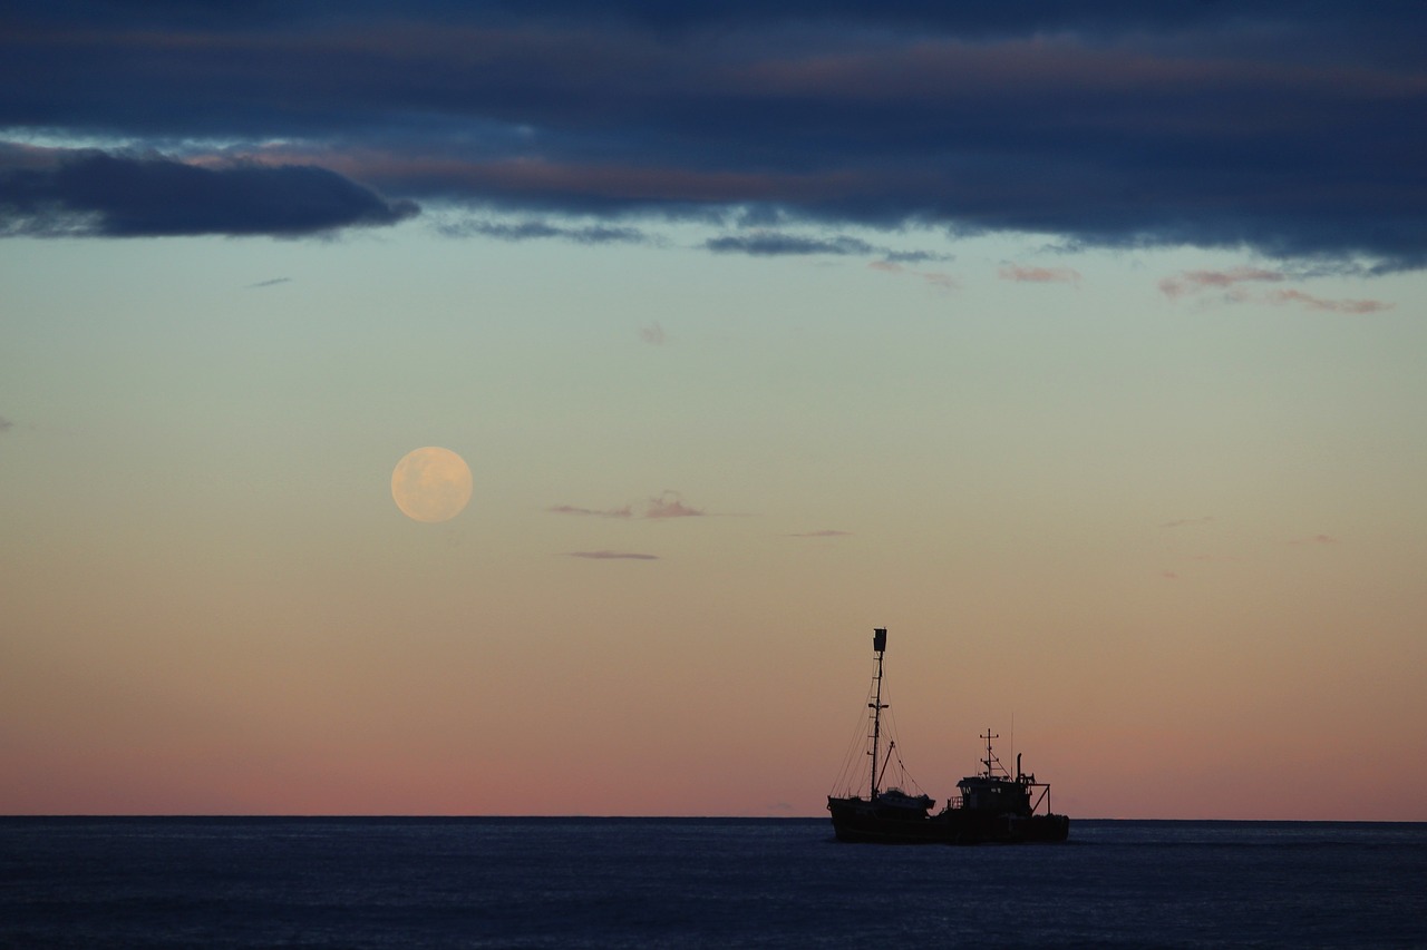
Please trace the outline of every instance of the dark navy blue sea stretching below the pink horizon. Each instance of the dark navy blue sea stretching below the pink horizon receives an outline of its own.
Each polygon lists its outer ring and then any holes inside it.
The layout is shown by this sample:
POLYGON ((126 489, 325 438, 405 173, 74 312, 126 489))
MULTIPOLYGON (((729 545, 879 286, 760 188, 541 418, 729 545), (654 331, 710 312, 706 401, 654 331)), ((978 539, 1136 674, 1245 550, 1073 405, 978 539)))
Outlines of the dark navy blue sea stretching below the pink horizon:
POLYGON ((0 947, 1427 947, 1427 824, 3 817, 0 947))

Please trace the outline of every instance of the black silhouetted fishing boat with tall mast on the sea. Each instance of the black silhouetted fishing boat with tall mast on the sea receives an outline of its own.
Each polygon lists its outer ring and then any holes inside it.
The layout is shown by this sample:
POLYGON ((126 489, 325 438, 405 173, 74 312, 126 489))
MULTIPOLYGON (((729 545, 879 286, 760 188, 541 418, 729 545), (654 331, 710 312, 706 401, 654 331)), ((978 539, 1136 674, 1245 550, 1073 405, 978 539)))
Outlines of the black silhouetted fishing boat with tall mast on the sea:
POLYGON ((895 740, 889 739, 886 750, 882 749, 882 713, 888 709, 882 702, 886 646, 886 629, 875 629, 872 650, 876 653, 878 672, 868 703, 872 710, 872 730, 868 735, 872 767, 863 773, 868 776, 866 795, 860 795, 858 789, 858 795, 828 796, 832 830, 838 840, 873 844, 1020 844, 1066 840, 1070 836, 1070 819, 1052 813, 1050 785, 1036 782, 1036 776, 1022 772, 1019 753, 1015 775, 1002 766, 992 746, 992 740, 999 736, 990 729, 980 736, 986 742, 986 757, 980 760, 983 770, 958 782, 959 795, 950 797, 940 812, 932 812, 936 800, 920 789, 913 793, 902 787, 879 787, 892 759, 896 757, 900 765, 895 740))

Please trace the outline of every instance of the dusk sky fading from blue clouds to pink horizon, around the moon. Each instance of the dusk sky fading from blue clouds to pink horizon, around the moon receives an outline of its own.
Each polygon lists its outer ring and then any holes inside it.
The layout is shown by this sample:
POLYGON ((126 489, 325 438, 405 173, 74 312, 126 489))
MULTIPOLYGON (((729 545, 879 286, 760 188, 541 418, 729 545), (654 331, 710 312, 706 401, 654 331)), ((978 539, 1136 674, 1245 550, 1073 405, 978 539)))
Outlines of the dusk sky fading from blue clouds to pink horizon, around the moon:
POLYGON ((1424 40, 7 3, 0 813, 1427 820, 1424 40))

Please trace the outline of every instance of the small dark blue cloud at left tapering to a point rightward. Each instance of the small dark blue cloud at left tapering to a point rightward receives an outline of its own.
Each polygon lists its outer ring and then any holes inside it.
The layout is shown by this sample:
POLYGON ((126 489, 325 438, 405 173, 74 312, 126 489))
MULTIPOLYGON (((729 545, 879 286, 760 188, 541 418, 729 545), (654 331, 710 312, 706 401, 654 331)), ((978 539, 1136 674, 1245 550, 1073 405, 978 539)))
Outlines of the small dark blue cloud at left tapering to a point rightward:
POLYGON ((298 237, 395 224, 417 210, 315 165, 210 167, 157 154, 0 148, 7 234, 298 237))

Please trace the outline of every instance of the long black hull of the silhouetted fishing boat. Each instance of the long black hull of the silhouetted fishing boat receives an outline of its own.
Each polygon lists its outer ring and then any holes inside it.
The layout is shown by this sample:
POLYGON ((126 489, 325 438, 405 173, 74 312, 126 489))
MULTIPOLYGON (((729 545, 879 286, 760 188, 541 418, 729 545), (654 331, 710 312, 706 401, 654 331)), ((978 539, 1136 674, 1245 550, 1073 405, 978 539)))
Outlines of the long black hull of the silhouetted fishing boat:
POLYGON ((1007 814, 949 809, 919 814, 879 809, 866 799, 828 799, 839 842, 860 844, 1030 844, 1063 842, 1065 814, 1007 814))

